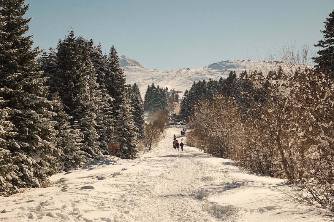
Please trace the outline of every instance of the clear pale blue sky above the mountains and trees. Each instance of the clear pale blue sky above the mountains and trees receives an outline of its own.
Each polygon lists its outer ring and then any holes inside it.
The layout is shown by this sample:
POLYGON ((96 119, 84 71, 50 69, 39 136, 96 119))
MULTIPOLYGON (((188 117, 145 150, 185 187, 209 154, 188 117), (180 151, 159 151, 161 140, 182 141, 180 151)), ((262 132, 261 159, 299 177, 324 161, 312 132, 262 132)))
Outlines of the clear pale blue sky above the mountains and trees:
POLYGON ((145 68, 262 60, 284 45, 323 39, 334 0, 26 0, 34 45, 56 47, 69 27, 145 68))

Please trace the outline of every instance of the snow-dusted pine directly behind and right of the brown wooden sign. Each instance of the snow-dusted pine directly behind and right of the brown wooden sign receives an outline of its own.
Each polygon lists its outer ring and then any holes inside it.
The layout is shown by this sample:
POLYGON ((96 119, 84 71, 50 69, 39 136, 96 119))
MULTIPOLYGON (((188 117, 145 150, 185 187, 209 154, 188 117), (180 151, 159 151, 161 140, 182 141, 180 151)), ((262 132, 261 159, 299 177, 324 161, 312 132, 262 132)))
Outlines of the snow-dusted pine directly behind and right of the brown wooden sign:
POLYGON ((115 121, 115 142, 120 143, 120 149, 117 150, 116 155, 125 159, 134 159, 138 152, 137 128, 133 121, 134 109, 130 105, 129 92, 124 91, 121 96, 124 103, 117 111, 115 121))

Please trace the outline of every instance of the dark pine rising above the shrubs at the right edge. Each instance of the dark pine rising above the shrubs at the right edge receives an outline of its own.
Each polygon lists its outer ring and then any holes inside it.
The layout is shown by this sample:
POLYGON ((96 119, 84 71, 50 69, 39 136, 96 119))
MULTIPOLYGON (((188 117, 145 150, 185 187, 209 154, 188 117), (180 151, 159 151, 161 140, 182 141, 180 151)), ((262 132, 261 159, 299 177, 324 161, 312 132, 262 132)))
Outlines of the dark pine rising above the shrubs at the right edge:
POLYGON ((317 68, 329 72, 332 79, 334 79, 334 10, 329 14, 329 18, 326 18, 325 30, 320 31, 324 34, 324 40, 318 41, 315 44, 316 47, 321 47, 323 50, 318 51, 318 57, 314 57, 313 60, 317 68))

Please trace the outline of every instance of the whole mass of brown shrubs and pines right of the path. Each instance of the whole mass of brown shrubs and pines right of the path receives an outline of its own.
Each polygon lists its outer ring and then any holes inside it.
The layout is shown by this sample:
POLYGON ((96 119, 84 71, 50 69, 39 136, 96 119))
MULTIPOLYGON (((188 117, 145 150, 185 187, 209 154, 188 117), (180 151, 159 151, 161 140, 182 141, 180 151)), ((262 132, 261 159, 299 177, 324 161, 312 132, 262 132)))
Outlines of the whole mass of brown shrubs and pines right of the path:
POLYGON ((188 143, 233 159, 250 172, 287 179, 295 185, 297 200, 318 202, 332 211, 333 17, 334 11, 325 22, 325 40, 316 45, 325 49, 313 58, 315 68, 307 65, 307 51, 291 49, 283 63, 266 73, 244 71, 238 78, 230 73, 232 82, 223 94, 222 84, 200 81, 182 100, 194 128, 188 143))

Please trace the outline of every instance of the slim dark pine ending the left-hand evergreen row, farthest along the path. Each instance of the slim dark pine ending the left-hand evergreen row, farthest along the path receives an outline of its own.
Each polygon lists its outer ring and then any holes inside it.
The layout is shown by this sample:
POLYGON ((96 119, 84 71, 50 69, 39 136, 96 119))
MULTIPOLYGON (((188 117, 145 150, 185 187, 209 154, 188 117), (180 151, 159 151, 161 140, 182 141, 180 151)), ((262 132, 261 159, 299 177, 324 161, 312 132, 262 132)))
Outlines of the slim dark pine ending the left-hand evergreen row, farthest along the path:
POLYGON ((134 123, 135 126, 138 129, 138 140, 142 140, 144 138, 144 126, 145 126, 145 120, 144 120, 144 105, 143 100, 139 92, 139 87, 137 84, 133 84, 131 87, 131 106, 135 110, 134 112, 134 123))

